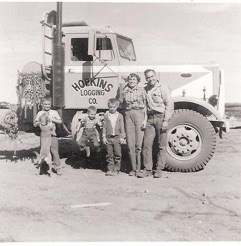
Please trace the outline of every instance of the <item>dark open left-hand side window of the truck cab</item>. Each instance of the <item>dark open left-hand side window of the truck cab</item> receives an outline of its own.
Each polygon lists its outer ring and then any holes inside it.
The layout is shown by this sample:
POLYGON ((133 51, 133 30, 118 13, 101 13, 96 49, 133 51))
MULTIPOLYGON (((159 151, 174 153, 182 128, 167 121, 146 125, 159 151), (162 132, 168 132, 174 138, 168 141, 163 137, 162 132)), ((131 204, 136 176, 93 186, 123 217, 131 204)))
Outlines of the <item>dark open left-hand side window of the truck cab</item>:
POLYGON ((71 60, 93 61, 93 57, 88 55, 88 38, 71 39, 71 60))

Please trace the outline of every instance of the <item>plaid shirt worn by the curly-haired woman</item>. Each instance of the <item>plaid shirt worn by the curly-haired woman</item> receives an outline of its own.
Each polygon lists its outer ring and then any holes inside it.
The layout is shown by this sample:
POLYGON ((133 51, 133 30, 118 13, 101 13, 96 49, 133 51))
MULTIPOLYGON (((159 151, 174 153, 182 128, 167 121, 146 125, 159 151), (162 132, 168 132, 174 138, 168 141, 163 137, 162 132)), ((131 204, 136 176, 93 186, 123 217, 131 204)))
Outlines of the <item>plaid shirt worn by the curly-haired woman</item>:
POLYGON ((138 85, 134 88, 130 88, 126 85, 120 94, 119 100, 121 109, 144 109, 146 104, 146 91, 138 85))

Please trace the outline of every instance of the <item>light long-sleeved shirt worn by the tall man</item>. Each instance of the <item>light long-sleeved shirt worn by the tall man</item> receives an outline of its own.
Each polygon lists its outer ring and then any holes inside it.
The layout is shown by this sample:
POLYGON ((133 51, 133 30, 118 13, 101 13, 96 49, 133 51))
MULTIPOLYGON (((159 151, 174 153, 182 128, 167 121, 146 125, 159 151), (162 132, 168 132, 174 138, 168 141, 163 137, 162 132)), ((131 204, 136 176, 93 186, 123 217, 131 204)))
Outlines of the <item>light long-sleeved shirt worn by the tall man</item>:
POLYGON ((147 85, 145 90, 147 93, 147 114, 163 113, 164 121, 169 121, 174 111, 174 103, 167 85, 162 83, 157 83, 154 87, 147 85))

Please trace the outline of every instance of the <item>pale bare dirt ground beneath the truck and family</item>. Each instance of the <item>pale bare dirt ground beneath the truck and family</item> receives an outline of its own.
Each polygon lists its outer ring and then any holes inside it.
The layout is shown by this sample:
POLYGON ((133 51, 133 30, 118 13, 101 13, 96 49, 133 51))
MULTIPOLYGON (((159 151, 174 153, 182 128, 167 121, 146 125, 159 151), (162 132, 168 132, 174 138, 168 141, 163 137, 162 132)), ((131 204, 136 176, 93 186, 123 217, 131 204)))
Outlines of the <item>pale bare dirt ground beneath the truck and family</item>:
POLYGON ((204 170, 161 179, 84 169, 62 139, 63 175, 49 178, 30 158, 38 137, 21 134, 12 159, 0 134, 0 242, 239 241, 241 129, 223 137, 204 170))

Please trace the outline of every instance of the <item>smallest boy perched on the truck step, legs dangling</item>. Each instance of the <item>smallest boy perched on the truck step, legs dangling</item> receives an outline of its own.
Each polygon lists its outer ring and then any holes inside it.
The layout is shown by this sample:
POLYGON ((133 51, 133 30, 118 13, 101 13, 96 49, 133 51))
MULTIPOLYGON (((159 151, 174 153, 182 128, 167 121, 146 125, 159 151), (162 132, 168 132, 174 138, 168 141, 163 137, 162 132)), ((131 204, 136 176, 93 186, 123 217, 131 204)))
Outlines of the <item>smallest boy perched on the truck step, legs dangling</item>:
POLYGON ((78 141, 78 145, 80 146, 80 150, 86 151, 86 156, 90 156, 90 147, 88 146, 88 141, 93 144, 94 150, 96 152, 100 151, 100 144, 98 141, 98 131, 96 126, 101 126, 101 122, 96 118, 97 109, 94 106, 90 106, 87 109, 88 116, 86 116, 81 121, 81 127, 83 127, 83 133, 78 141))

